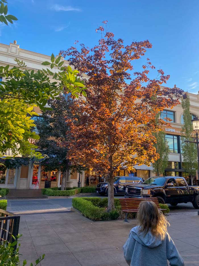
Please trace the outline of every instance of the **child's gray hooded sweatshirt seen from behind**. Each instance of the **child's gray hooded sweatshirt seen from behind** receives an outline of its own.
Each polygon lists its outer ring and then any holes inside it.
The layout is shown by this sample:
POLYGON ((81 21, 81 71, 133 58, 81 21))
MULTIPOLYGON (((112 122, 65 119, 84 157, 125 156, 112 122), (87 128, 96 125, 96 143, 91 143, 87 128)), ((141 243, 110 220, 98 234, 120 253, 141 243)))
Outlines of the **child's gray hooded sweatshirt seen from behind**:
POLYGON ((156 238, 149 231, 146 235, 136 226, 130 230, 127 242, 123 246, 124 257, 130 266, 184 266, 184 261, 170 235, 156 238))

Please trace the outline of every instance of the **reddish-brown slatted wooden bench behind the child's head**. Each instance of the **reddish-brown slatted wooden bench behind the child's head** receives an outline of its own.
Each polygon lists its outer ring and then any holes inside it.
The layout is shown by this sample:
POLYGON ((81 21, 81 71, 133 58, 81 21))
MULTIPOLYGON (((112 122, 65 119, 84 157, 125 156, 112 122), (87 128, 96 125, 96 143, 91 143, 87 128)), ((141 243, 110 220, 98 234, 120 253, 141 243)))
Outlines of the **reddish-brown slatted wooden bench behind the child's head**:
POLYGON ((152 200, 156 204, 158 210, 160 211, 165 210, 165 209, 160 208, 157 198, 124 198, 124 199, 119 199, 119 200, 120 200, 122 211, 126 213, 125 222, 128 222, 127 220, 128 213, 138 212, 139 204, 143 200, 147 200, 147 201, 152 200))

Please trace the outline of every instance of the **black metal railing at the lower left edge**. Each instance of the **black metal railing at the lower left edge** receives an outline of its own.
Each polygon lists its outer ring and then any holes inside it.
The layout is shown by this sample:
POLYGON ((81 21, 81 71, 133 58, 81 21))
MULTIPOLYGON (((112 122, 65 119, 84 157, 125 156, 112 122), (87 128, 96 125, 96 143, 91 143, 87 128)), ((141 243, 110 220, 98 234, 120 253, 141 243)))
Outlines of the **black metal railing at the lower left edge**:
MULTIPOLYGON (((20 216, 0 209, 0 243, 13 243, 19 232, 20 216)), ((17 238, 16 238, 17 241, 17 238)), ((14 247, 16 249, 16 246, 14 247)))

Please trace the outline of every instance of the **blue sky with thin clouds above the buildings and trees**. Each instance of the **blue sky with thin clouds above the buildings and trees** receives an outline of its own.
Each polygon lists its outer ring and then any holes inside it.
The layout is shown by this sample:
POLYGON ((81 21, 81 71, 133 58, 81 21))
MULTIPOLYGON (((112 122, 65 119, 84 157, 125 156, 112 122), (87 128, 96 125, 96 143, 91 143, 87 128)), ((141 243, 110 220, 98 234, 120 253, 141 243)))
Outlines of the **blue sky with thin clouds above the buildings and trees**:
MULTIPOLYGON (((198 0, 8 0, 9 13, 18 21, 0 25, 0 42, 17 40, 20 48, 51 55, 75 40, 94 46, 95 29, 108 20, 109 31, 125 44, 148 39, 146 53, 156 68, 171 77, 167 86, 191 93, 199 90, 198 0)), ((134 63, 139 70, 145 59, 134 63)), ((151 78, 155 78, 152 73, 151 78)))

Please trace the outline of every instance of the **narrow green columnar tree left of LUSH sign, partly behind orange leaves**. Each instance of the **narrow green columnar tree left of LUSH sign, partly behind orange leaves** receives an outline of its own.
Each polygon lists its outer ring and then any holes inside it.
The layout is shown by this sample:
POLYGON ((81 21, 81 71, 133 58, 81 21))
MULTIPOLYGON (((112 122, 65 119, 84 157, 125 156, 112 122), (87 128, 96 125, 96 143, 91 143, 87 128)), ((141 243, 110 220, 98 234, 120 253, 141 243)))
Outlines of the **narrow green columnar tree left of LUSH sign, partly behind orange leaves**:
MULTIPOLYGON (((159 122, 160 113, 156 115, 156 123, 159 122)), ((156 152, 159 154, 159 158, 152 163, 152 167, 154 172, 157 173, 157 176, 163 174, 165 168, 168 165, 169 159, 169 146, 165 140, 165 133, 164 131, 158 130, 154 133, 154 137, 156 139, 156 143, 154 143, 154 147, 156 148, 156 152)))

